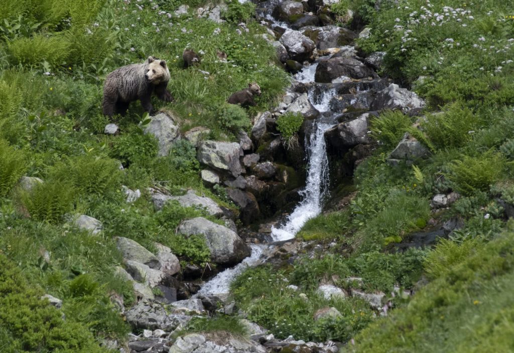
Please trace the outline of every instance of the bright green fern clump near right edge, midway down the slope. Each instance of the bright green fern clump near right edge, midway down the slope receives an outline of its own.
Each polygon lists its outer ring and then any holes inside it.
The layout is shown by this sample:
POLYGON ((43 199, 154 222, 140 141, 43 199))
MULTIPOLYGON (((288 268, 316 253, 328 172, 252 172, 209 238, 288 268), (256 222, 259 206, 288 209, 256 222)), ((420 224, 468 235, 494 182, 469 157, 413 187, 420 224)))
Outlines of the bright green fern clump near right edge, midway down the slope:
POLYGON ((455 183, 459 192, 470 195, 475 191, 487 191, 497 182, 505 169, 505 160, 499 153, 489 151, 478 157, 462 156, 453 161, 448 178, 455 183))

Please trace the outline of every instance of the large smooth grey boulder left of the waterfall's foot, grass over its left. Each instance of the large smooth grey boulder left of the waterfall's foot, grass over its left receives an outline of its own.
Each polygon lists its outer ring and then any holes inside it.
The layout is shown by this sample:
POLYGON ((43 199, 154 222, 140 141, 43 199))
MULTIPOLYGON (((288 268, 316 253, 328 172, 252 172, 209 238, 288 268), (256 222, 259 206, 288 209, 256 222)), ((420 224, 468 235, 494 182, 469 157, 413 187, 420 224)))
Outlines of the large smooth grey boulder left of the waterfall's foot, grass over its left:
POLYGON ((236 232, 203 217, 182 222, 177 233, 203 234, 214 263, 230 265, 241 262, 250 255, 250 248, 236 232))

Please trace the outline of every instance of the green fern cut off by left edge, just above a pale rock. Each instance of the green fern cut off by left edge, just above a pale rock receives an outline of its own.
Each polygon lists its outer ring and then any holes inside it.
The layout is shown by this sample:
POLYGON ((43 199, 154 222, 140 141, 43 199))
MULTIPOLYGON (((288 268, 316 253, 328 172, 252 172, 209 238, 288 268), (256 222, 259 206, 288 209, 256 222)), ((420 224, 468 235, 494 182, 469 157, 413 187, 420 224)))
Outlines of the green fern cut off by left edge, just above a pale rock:
POLYGON ((25 153, 0 140, 0 197, 5 197, 27 169, 25 153))

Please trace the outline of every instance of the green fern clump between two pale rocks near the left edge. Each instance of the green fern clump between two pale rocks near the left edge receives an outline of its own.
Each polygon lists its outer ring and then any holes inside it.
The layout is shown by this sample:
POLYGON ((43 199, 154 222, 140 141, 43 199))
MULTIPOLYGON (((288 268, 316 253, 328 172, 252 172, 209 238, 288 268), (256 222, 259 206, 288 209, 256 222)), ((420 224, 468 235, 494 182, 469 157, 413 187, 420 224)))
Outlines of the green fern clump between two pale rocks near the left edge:
POLYGON ((37 221, 58 223, 73 208, 74 187, 69 182, 48 180, 22 192, 21 200, 30 217, 37 221))

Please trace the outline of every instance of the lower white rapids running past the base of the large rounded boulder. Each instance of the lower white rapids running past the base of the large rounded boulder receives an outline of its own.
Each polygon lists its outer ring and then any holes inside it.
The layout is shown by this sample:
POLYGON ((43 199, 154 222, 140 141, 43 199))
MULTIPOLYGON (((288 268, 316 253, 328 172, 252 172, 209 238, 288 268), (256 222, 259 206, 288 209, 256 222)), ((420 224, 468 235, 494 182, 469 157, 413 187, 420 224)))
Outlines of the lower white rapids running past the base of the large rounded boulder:
POLYGON ((252 253, 243 262, 235 265, 232 268, 227 268, 223 272, 219 272, 215 277, 201 286, 201 289, 193 296, 196 298, 198 295, 219 295, 229 292, 230 283, 234 278, 243 272, 246 268, 255 264, 261 257, 262 251, 266 245, 250 244, 252 253))

